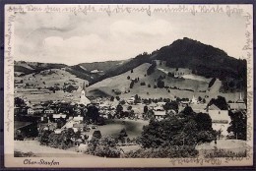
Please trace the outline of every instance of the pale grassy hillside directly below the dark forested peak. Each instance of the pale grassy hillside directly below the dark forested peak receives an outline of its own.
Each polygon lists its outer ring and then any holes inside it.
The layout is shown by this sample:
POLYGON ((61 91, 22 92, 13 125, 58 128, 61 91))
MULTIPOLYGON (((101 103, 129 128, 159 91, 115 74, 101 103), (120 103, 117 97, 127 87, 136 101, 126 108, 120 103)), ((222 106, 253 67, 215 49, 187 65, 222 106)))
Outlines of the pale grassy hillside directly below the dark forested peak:
MULTIPOLYGON (((90 95, 95 95, 95 91, 100 90, 108 95, 119 95, 122 98, 130 98, 135 94, 139 94, 143 98, 174 98, 174 96, 191 98, 193 95, 205 97, 207 95, 215 97, 219 93, 221 87, 221 81, 209 88, 211 79, 204 77, 198 77, 196 75, 184 75, 190 76, 191 79, 184 78, 172 78, 167 75, 168 72, 176 71, 174 68, 168 68, 168 70, 161 65, 158 65, 155 72, 150 76, 147 75, 147 70, 151 64, 145 63, 136 67, 135 69, 118 76, 107 78, 101 82, 96 83, 88 87, 90 95), (166 87, 154 87, 158 85, 158 79, 162 77, 162 81, 166 87), (129 78, 129 79, 128 79, 129 78), (133 87, 130 87, 132 80, 137 79, 138 83, 135 83, 133 87)), ((179 68, 180 73, 191 73, 188 69, 179 68)))

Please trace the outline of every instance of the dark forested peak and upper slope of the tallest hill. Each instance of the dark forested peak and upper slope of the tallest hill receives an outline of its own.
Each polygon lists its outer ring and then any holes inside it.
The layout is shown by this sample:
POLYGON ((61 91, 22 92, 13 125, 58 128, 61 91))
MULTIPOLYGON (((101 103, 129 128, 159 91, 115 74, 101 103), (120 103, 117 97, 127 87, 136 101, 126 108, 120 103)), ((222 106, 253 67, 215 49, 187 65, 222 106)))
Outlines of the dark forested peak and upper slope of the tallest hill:
POLYGON ((184 37, 173 41, 170 45, 161 47, 152 54, 143 53, 128 62, 106 72, 95 80, 93 84, 109 77, 125 73, 143 63, 152 60, 165 61, 171 68, 188 68, 193 74, 206 78, 226 78, 242 80, 246 86, 246 60, 239 60, 228 56, 223 50, 197 40, 184 37))

